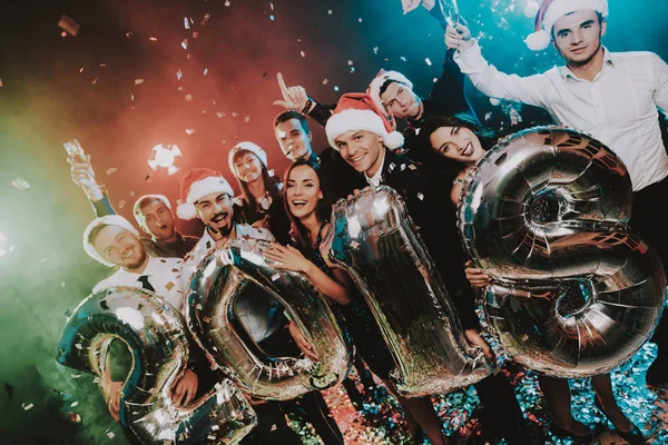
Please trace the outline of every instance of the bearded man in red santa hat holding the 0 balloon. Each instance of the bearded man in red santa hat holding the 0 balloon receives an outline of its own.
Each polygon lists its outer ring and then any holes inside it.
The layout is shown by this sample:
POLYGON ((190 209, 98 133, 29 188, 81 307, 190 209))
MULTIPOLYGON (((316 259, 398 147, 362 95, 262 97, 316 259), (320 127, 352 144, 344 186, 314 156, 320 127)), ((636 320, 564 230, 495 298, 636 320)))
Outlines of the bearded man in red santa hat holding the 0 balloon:
MULTIPOLYGON (((275 240, 267 229, 234 222, 234 190, 220 172, 207 168, 191 169, 181 180, 180 188, 181 204, 177 215, 181 219, 197 218, 204 225, 202 238, 184 259, 184 288, 189 287, 191 275, 216 243, 244 236, 275 240)), ((289 334, 284 329, 287 319, 276 300, 264 294, 254 294, 252 298, 239 298, 235 309, 248 335, 261 348, 264 348, 263 343, 278 344, 278 350, 281 346, 289 346, 289 334)), ((284 355, 293 355, 289 349, 283 350, 284 355)), ((299 443, 298 436, 285 424, 282 404, 248 398, 258 415, 258 425, 244 443, 299 443)), ((305 394, 298 403, 325 445, 343 443, 343 435, 318 392, 305 394)))

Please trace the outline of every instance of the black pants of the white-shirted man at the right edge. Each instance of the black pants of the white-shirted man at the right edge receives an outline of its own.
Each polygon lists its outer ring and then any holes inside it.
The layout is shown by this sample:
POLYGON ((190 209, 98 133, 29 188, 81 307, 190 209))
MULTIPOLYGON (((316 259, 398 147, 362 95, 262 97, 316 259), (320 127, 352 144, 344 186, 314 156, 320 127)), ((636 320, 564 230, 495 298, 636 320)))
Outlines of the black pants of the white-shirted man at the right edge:
MULTIPOLYGON (((668 178, 665 178, 633 192, 631 212, 631 228, 640 233, 642 239, 659 254, 659 258, 664 263, 664 270, 667 270, 668 267, 668 234, 666 234, 666 221, 661 218, 661 209, 667 198, 668 178)), ((666 275, 668 275, 668 270, 666 275)), ((666 318, 667 314, 664 312, 659 327, 651 340, 659 347, 657 360, 661 360, 668 366, 668 322, 666 318)))

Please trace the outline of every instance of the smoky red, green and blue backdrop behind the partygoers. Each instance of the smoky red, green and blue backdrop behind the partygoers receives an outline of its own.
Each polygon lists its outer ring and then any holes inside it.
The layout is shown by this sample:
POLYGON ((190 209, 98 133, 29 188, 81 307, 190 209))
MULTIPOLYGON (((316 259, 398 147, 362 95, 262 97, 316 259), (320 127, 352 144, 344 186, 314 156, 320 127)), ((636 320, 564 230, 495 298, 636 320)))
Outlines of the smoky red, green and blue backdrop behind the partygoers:
MULTIPOLYGON (((554 50, 533 53, 522 42, 533 23, 522 12, 527 0, 460 3, 500 69, 530 75, 560 62, 554 50)), ((610 50, 668 59, 665 0, 611 0, 610 11, 603 40, 610 50)), ((125 441, 92 376, 55 360, 66 308, 110 273, 81 248, 92 212, 69 178, 65 141, 81 142, 112 204, 131 219, 139 195, 175 201, 189 168, 229 175, 227 152, 237 141, 264 147, 282 175, 287 162, 273 135, 281 111, 272 105, 281 98, 276 72, 325 102, 364 90, 380 68, 402 71, 426 96, 444 56, 438 22, 422 8, 403 16, 400 0, 6 1, 0 14, 0 254, 7 250, 0 257, 0 443, 7 444, 107 443, 108 431, 112 442, 125 441), (80 24, 77 37, 60 36, 63 13, 80 24), (189 30, 184 18, 194 21, 189 30), (174 176, 148 167, 157 144, 183 151, 174 176), (108 175, 110 168, 117 171, 108 175), (17 178, 30 188, 12 187, 17 178), (70 422, 69 412, 82 422, 70 422)), ((510 129, 502 106, 473 91, 470 99, 480 119, 510 129)), ((523 116, 513 129, 540 115, 523 116)), ((320 150, 324 134, 313 128, 320 150)), ((181 222, 184 233, 200 234, 196 224, 181 222)))

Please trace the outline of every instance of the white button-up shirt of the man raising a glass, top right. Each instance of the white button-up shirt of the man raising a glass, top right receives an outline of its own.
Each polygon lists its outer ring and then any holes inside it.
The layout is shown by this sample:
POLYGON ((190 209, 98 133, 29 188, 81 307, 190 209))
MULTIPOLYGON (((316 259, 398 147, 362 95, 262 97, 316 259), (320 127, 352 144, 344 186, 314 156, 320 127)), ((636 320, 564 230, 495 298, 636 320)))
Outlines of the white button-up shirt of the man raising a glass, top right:
POLYGON ((592 81, 566 66, 542 75, 505 75, 484 60, 478 42, 454 61, 487 96, 544 108, 556 122, 584 131, 626 164, 633 191, 668 176, 657 107, 668 110, 668 66, 652 52, 609 52, 592 81))

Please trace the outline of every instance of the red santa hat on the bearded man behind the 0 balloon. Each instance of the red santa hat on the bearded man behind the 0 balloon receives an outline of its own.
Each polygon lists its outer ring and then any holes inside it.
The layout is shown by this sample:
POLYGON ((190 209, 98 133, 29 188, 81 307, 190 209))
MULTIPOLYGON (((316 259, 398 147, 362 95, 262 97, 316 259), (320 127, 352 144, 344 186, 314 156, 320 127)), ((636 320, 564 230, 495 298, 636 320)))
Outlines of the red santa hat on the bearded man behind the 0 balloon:
POLYGON ((208 168, 194 168, 186 174, 180 184, 181 204, 176 208, 176 215, 181 219, 195 219, 197 208, 195 202, 200 198, 216 192, 234 196, 234 190, 223 174, 208 168))

